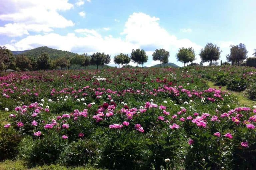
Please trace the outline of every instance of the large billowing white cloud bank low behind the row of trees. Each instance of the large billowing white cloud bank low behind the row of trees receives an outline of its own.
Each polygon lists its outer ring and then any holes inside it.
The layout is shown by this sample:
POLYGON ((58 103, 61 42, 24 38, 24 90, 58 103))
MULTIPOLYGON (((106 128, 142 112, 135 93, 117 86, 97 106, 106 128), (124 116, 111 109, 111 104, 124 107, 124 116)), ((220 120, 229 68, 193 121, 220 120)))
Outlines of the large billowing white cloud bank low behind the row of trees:
MULTIPOLYGON (((56 49, 68 50, 76 53, 102 52, 114 55, 122 52, 130 54, 132 49, 142 48, 146 51, 149 62, 145 66, 155 65, 158 61, 152 61, 152 53, 156 48, 164 48, 170 51, 170 62, 175 62, 173 57, 182 46, 193 47, 199 51, 201 46, 188 39, 178 39, 160 27, 157 17, 151 17, 143 13, 134 13, 129 16, 121 35, 124 38, 102 36, 96 30, 76 29, 74 33, 59 35, 49 33, 45 35, 28 36, 18 42, 4 44, 12 50, 26 50, 38 46, 48 46, 56 49)), ((111 61, 114 65, 113 60, 111 61)), ((136 63, 130 62, 132 65, 136 63)))

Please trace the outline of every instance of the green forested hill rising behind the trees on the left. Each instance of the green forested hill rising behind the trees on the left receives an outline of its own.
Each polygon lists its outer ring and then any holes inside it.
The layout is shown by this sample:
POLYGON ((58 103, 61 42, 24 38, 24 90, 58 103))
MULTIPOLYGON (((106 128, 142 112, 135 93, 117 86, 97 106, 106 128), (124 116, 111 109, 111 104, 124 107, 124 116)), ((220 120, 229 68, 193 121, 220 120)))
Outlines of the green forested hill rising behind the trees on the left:
POLYGON ((29 50, 25 50, 25 51, 12 51, 13 55, 26 55, 27 57, 32 57, 32 58, 37 58, 41 53, 43 52, 47 52, 50 55, 50 58, 52 59, 56 59, 59 57, 63 57, 63 56, 75 56, 76 53, 73 52, 69 52, 69 51, 62 51, 59 49, 53 49, 53 48, 49 48, 47 46, 41 46, 38 48, 34 48, 34 49, 29 49, 29 50))

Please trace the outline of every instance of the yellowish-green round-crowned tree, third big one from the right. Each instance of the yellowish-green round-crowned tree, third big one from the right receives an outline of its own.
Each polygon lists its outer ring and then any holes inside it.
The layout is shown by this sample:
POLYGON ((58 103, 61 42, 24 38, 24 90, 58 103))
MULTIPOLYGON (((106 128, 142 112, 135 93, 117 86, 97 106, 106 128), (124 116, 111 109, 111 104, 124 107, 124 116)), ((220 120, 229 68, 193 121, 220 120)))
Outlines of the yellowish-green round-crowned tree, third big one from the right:
POLYGON ((195 56, 196 54, 192 47, 190 48, 182 47, 179 49, 179 52, 176 54, 177 61, 183 62, 184 67, 186 63, 188 65, 188 62, 193 62, 195 60, 195 56))

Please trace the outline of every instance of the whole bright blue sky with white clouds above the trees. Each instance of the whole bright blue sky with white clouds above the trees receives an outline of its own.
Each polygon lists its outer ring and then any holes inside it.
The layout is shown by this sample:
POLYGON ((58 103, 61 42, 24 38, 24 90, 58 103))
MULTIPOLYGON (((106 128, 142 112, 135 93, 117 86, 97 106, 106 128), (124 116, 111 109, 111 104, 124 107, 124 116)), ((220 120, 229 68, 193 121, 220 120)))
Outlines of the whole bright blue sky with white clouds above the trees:
MULTIPOLYGON (((230 45, 256 48, 255 0, 0 0, 0 46, 13 51, 48 46, 79 54, 105 52, 109 65, 119 53, 141 48, 152 60, 155 49, 176 53, 192 47, 195 62, 208 42, 220 47, 222 62, 230 45)), ((220 60, 219 60, 220 63, 220 60)), ((130 62, 131 65, 136 63, 130 62)), ((207 64, 207 63, 205 63, 207 64)))

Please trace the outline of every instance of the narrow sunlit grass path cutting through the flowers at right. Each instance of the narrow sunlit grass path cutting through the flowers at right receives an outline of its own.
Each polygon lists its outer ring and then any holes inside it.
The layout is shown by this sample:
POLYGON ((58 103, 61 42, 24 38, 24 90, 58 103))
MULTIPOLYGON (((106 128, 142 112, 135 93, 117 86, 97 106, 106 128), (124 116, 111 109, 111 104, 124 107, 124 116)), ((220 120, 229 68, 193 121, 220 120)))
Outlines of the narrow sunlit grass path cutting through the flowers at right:
MULTIPOLYGON (((208 81, 207 85, 211 88, 216 88, 218 89, 219 86, 215 86, 213 82, 208 81)), ((221 86, 222 90, 227 90, 226 86, 221 86)), ((234 91, 230 91, 227 90, 228 92, 232 93, 233 95, 235 95, 238 99, 238 102, 242 105, 248 106, 248 107, 253 107, 256 105, 256 101, 254 100, 250 100, 247 97, 244 96, 243 92, 234 92, 234 91)))

